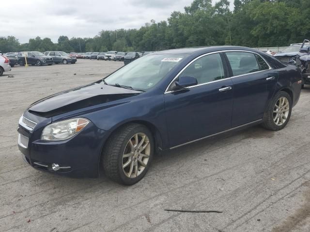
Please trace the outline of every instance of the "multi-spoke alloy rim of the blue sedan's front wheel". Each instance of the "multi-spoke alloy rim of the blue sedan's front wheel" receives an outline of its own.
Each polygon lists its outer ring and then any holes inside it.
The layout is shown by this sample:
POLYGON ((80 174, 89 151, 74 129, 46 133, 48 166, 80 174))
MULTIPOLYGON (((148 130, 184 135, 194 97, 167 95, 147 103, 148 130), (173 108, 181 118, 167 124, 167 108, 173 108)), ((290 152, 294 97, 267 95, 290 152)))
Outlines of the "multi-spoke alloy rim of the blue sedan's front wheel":
POLYGON ((136 178, 145 169, 151 153, 150 139, 145 133, 136 133, 125 146, 122 160, 124 174, 136 178))

